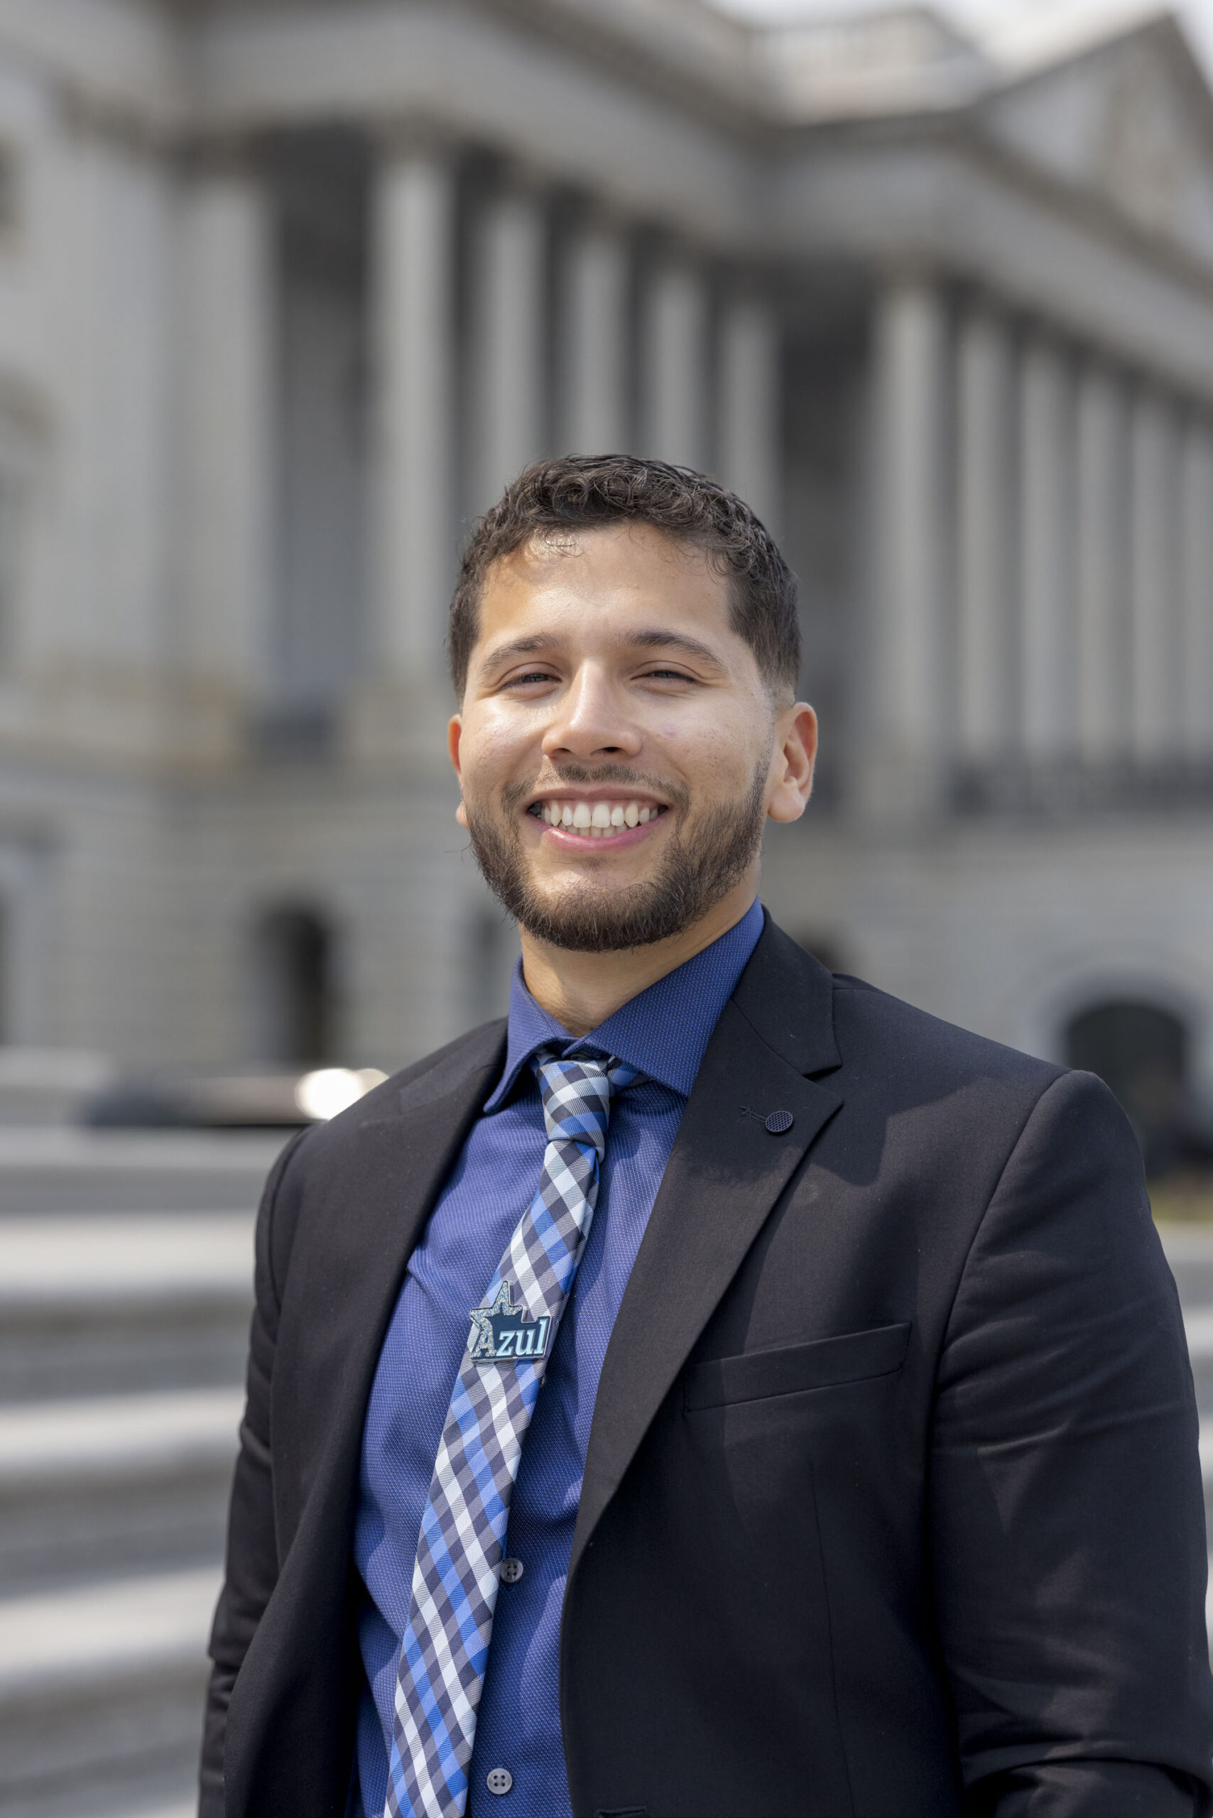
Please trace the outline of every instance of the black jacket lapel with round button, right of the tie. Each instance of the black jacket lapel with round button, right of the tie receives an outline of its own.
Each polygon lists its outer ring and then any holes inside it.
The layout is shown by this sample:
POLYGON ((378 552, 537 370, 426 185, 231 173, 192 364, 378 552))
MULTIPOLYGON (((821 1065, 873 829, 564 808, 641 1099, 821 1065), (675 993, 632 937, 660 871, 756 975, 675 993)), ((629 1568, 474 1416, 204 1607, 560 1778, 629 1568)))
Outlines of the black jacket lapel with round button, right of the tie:
POLYGON ((687 1353, 842 1098, 833 982, 767 922, 678 1127, 602 1365, 569 1578, 687 1353), (767 1113, 791 1127, 767 1131, 767 1113))

